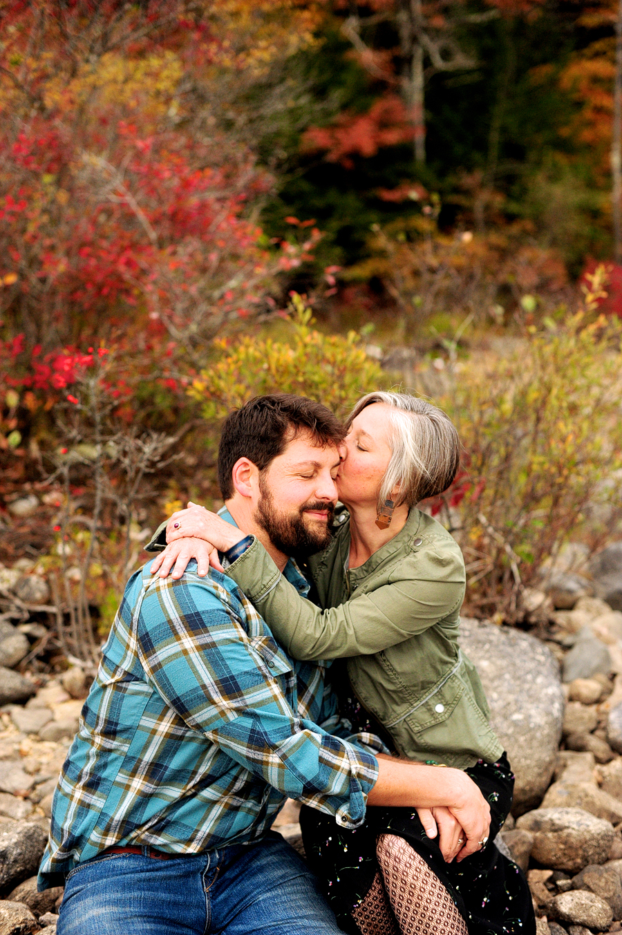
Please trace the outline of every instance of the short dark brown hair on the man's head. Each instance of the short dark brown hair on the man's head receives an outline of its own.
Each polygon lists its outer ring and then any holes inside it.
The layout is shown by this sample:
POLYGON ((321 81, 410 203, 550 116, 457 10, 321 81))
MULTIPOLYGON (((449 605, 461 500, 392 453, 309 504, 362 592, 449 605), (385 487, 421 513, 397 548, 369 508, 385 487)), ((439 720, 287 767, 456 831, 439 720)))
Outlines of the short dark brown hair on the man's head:
POLYGON ((268 468, 290 441, 309 432, 318 447, 340 445, 343 425, 322 403, 307 396, 273 393, 255 396, 224 420, 218 448, 218 483, 225 500, 233 496, 232 471, 239 458, 268 468))

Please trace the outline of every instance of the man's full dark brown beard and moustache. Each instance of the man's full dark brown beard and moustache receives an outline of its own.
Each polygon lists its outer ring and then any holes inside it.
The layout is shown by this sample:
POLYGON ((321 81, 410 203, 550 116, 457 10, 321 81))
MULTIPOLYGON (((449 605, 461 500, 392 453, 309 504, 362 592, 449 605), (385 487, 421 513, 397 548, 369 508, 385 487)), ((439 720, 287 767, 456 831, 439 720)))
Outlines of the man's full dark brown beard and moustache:
POLYGON ((257 505, 254 521, 266 530, 272 545, 279 552, 292 558, 307 558, 326 548, 333 537, 331 525, 335 515, 334 504, 323 500, 309 500, 293 515, 280 512, 274 505, 274 497, 261 474, 259 475, 259 492, 261 499, 257 505), (307 510, 327 511, 326 525, 315 524, 311 528, 306 525, 304 512, 307 510))

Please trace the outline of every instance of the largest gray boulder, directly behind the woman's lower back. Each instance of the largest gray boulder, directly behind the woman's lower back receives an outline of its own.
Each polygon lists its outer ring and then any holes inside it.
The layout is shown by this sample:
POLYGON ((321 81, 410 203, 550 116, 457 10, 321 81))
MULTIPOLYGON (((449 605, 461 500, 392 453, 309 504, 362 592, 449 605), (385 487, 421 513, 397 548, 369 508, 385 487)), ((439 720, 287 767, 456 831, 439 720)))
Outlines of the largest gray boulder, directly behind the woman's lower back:
POLYGON ((516 776, 513 811, 526 812, 540 802, 557 761, 564 705, 557 662, 541 640, 509 627, 463 618, 460 634, 516 776), (529 689, 517 692, 516 684, 529 689))

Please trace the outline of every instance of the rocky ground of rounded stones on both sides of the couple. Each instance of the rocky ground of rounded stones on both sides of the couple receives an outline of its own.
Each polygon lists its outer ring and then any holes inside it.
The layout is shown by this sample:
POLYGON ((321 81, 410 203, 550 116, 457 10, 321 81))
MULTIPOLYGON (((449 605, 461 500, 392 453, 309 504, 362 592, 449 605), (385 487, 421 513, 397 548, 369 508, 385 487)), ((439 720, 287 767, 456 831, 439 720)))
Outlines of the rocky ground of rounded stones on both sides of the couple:
MULTIPOLYGON (((516 773, 498 846, 528 873, 538 935, 622 931, 622 542, 588 570, 528 594, 533 632, 462 627, 516 773)), ((53 935, 62 899, 36 870, 90 677, 40 664, 48 600, 33 563, 0 568, 0 935, 53 935)), ((300 847, 296 802, 277 827, 300 847)))

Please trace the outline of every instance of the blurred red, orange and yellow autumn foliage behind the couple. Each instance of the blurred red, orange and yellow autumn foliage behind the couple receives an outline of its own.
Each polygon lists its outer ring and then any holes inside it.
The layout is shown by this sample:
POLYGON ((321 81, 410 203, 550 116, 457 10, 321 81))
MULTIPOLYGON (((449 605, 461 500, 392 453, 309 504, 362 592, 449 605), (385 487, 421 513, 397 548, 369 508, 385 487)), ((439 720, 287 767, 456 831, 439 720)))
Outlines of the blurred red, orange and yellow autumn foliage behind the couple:
POLYGON ((619 536, 615 16, 0 0, 0 560, 106 621, 228 408, 396 383, 460 424, 472 607, 619 536))

